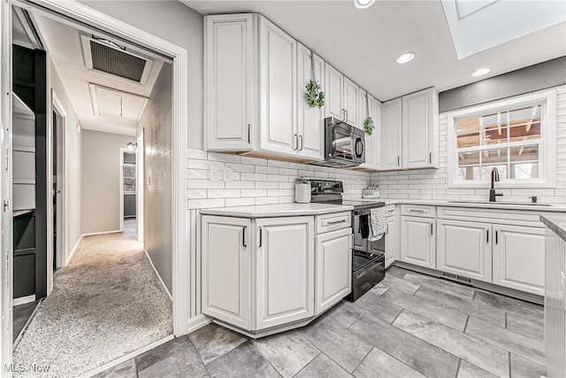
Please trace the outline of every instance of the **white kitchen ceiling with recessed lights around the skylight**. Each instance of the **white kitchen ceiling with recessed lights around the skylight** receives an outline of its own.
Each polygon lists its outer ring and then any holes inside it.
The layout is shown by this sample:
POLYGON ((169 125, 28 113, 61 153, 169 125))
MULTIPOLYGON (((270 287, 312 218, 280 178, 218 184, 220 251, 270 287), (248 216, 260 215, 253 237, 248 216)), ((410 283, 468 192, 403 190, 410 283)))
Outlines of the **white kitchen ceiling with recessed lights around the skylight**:
MULTIPOLYGON (((566 55, 561 22, 459 60, 440 0, 377 0, 365 10, 353 0, 181 1, 203 14, 262 13, 381 101, 432 86, 452 89, 566 55), (416 58, 397 64, 405 51, 416 58), (491 72, 470 76, 482 67, 491 72)), ((521 4, 537 12, 541 1, 521 4)))

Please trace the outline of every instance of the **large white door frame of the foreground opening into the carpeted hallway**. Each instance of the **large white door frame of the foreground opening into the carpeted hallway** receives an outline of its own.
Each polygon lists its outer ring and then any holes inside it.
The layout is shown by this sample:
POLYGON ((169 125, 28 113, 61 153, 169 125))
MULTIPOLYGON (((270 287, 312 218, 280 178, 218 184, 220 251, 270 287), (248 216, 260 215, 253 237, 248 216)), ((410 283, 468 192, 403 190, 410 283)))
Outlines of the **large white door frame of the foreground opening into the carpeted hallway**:
MULTIPOLYGON (((0 3, 0 46, 2 54, 2 70, 0 72, 0 85, 2 112, 2 135, 0 147, 2 152, 11 152, 11 4, 18 5, 31 12, 42 12, 49 17, 59 19, 73 19, 101 30, 107 30, 113 35, 128 41, 145 46, 172 58, 172 317, 173 334, 181 336, 187 334, 188 320, 190 318, 190 259, 187 235, 187 125, 188 125, 188 50, 172 42, 152 35, 124 21, 98 12, 86 4, 78 1, 58 0, 1 0, 0 3), (58 13, 55 14, 54 13, 58 13)), ((2 159, 4 161, 4 159, 2 159)), ((2 293, 2 359, 0 363, 11 363, 11 169, 7 177, 0 175, 0 195, 10 204, 7 211, 2 213, 0 227, 4 236, 0 236, 3 247, 0 251, 0 293, 2 293)))

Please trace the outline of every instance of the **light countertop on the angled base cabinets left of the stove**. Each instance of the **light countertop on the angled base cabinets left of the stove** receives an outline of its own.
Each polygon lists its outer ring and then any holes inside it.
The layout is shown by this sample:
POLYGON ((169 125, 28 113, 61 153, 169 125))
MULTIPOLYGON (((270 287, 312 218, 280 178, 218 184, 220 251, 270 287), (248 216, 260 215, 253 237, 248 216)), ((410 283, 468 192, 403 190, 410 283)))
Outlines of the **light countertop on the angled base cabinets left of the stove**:
POLYGON ((351 212, 353 206, 342 204, 258 204, 255 206, 218 207, 201 209, 201 214, 238 218, 293 217, 320 215, 332 212, 351 212))

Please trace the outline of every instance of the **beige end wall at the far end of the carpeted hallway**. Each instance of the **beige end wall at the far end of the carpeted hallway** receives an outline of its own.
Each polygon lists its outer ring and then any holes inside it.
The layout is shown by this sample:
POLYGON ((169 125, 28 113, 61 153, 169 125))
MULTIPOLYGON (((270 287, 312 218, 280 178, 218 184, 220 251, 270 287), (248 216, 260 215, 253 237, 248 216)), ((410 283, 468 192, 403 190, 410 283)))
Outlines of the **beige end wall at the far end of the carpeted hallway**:
POLYGON ((120 148, 134 136, 82 130, 82 233, 119 230, 120 148))

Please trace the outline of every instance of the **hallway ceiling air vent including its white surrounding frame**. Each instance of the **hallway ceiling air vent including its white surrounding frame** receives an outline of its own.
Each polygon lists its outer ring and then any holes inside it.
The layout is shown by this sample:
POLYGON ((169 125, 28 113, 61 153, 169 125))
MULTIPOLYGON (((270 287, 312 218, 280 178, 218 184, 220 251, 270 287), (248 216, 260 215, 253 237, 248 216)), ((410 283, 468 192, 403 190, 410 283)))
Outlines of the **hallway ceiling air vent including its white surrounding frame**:
POLYGON ((137 81, 145 84, 153 61, 134 54, 118 44, 80 35, 87 69, 137 81))

